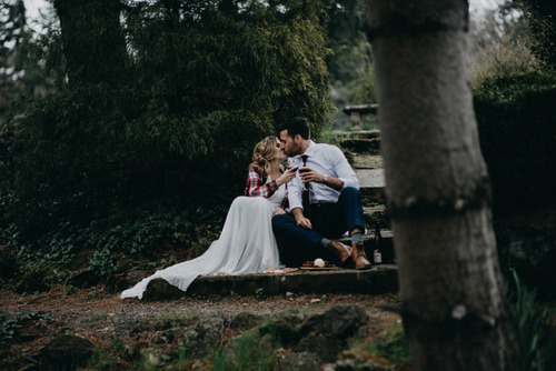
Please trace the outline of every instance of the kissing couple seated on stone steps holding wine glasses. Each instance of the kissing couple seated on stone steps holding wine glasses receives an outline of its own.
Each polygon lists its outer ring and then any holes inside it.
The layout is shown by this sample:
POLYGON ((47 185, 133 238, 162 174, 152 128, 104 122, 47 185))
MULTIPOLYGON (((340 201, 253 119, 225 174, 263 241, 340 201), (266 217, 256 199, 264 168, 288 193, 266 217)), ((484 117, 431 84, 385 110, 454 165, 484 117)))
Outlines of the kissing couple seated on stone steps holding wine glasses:
POLYGON ((302 118, 287 120, 278 132, 255 146, 245 194, 231 203, 219 239, 200 257, 142 279, 121 299, 142 299, 156 278, 186 291, 199 275, 261 273, 316 258, 371 267, 359 182, 341 150, 315 143, 302 118), (336 240, 346 232, 350 247, 336 240))

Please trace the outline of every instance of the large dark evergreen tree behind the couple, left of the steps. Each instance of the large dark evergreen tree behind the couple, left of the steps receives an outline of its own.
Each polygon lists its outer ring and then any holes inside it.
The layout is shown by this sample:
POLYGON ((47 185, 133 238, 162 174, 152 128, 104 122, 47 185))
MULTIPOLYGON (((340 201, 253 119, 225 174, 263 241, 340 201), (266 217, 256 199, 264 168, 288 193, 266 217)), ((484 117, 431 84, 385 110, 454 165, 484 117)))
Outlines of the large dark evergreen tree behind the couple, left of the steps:
POLYGON ((284 119, 326 124, 320 1, 101 3, 54 2, 68 83, 18 106, 12 215, 28 233, 160 200, 226 202, 284 119))

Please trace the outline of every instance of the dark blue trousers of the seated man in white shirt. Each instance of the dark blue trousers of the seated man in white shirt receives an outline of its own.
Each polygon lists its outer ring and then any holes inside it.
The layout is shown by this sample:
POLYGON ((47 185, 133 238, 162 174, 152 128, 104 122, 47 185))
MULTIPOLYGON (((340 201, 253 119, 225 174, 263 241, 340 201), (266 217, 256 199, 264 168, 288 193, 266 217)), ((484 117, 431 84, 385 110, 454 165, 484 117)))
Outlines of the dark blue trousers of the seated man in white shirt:
POLYGON ((365 230, 361 197, 353 187, 341 190, 338 202, 312 204, 309 210, 304 210, 304 215, 311 221, 312 230, 297 225, 291 214, 272 218, 280 260, 285 264, 297 265, 316 258, 330 259, 319 243, 324 237, 336 239, 356 227, 365 230))

